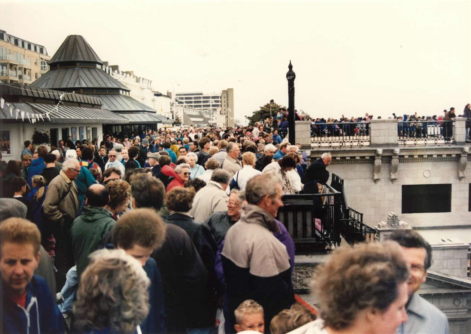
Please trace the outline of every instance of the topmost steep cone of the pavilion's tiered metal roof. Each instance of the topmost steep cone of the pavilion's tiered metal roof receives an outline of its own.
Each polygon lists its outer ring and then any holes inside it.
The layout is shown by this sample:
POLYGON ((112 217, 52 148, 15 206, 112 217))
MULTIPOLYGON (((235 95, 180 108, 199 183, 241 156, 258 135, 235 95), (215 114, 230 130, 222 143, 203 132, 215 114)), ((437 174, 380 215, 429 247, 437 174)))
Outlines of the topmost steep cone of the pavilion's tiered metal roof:
POLYGON ((49 65, 61 62, 86 62, 102 65, 100 57, 81 35, 69 35, 49 61, 49 65))

